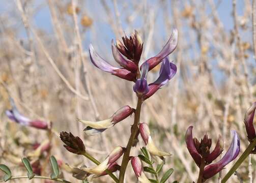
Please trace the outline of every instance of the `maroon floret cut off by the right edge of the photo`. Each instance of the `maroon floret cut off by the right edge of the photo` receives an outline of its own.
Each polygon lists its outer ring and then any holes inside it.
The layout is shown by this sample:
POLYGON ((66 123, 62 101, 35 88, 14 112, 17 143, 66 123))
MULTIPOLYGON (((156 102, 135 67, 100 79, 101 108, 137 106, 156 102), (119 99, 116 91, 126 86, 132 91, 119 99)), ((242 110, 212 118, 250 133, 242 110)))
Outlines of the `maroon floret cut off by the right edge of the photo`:
POLYGON ((256 109, 256 102, 254 102, 252 106, 249 109, 247 109, 244 115, 244 124, 247 132, 247 137, 249 140, 252 140, 256 137, 255 129, 253 127, 253 118, 255 114, 255 109, 256 109))

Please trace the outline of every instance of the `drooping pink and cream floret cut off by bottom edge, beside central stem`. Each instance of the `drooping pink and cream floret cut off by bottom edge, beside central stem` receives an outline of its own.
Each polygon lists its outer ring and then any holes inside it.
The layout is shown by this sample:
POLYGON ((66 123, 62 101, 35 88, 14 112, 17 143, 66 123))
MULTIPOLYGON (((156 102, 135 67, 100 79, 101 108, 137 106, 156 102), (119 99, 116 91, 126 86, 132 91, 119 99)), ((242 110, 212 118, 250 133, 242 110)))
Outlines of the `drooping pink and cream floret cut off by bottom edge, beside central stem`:
POLYGON ((138 178, 138 182, 140 183, 150 183, 150 180, 146 177, 143 170, 143 163, 138 157, 131 158, 132 169, 138 178))

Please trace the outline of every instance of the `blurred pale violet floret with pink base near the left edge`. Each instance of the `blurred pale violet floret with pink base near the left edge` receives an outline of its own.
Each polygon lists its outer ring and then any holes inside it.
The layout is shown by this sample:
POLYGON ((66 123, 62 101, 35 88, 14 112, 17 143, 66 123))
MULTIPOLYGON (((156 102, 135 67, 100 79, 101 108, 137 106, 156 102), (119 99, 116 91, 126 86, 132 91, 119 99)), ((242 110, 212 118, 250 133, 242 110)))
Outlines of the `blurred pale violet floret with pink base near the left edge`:
POLYGON ((37 129, 43 129, 43 130, 48 129, 48 125, 45 121, 41 121, 38 119, 32 120, 20 114, 12 98, 10 98, 10 103, 11 103, 12 109, 6 110, 6 115, 8 116, 9 119, 23 126, 31 126, 31 127, 34 127, 37 129))

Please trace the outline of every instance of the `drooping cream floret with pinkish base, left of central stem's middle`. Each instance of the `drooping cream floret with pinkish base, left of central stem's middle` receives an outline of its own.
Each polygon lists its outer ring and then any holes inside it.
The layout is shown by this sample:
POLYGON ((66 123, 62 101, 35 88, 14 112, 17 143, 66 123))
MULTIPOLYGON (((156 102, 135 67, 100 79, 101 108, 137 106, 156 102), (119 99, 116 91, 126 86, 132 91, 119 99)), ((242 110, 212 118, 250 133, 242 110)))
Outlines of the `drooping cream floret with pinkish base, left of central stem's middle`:
POLYGON ((106 129, 116 125, 118 122, 131 115, 134 111, 135 109, 126 105, 105 120, 94 122, 78 119, 78 121, 87 125, 87 127, 83 130, 86 135, 96 135, 97 133, 104 132, 106 129))

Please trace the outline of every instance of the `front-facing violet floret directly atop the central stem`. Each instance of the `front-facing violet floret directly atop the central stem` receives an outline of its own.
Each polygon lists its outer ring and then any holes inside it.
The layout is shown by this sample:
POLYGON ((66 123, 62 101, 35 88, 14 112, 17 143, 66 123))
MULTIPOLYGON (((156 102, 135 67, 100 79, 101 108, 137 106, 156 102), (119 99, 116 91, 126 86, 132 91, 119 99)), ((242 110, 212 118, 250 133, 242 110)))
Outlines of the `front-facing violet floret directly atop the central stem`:
POLYGON ((141 67, 140 78, 137 79, 137 81, 133 85, 133 90, 134 92, 137 93, 137 95, 141 96, 149 92, 149 85, 147 82, 148 70, 149 70, 149 65, 146 63, 143 67, 141 67))

